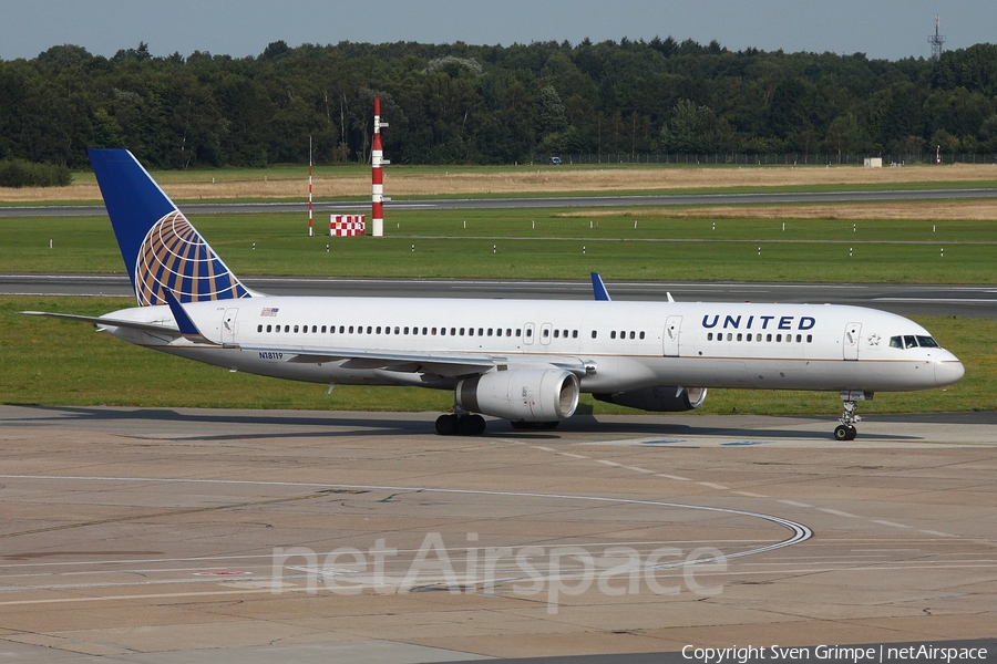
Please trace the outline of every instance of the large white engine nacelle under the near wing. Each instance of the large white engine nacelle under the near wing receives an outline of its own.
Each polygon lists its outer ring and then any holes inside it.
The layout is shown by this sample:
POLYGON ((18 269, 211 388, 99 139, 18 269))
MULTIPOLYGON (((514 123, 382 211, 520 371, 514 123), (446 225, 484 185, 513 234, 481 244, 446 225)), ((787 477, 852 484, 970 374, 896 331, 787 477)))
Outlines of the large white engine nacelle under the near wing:
POLYGON ((578 377, 561 369, 496 371, 458 383, 456 405, 515 422, 557 422, 578 406, 578 377))

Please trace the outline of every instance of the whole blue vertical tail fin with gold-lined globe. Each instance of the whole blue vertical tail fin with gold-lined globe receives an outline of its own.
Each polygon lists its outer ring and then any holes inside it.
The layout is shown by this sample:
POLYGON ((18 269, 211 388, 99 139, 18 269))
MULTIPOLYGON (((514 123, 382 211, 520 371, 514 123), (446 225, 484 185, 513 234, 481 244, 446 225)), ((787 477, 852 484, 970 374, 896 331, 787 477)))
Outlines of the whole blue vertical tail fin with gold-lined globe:
POLYGON ((248 298, 250 292, 126 149, 91 149, 90 160, 141 307, 248 298))

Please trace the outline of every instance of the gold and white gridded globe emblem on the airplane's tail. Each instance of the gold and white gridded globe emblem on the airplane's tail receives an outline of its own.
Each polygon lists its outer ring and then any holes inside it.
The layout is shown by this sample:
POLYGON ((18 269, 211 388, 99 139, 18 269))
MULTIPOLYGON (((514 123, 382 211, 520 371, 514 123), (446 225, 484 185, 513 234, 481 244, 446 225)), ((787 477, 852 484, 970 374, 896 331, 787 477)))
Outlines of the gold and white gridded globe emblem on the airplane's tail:
POLYGON ((250 297, 191 222, 175 209, 148 230, 135 263, 140 305, 166 304, 163 289, 169 289, 185 303, 250 297))

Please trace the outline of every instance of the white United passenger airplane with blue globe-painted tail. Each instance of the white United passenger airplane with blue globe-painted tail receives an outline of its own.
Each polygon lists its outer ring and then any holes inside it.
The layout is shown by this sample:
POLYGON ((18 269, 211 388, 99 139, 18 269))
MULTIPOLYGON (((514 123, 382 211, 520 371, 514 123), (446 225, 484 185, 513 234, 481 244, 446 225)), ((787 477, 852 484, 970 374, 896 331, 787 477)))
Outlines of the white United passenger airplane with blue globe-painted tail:
POLYGON ((932 390, 959 360, 903 317, 832 304, 626 302, 593 273, 590 301, 274 297, 236 277, 125 149, 91 149, 137 307, 93 323, 156 351, 232 371, 336 384, 452 391, 441 435, 480 435, 482 415, 545 429, 580 393, 649 412, 698 408, 709 388, 836 392, 834 438, 857 404, 932 390))

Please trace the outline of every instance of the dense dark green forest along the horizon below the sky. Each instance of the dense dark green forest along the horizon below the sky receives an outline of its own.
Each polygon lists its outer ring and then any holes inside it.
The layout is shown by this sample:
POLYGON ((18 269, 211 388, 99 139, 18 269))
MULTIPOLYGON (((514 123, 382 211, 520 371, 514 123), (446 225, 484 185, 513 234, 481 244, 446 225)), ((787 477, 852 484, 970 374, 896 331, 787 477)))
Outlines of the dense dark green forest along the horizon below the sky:
POLYGON ((71 168, 124 146, 155 167, 369 158, 372 98, 395 164, 534 155, 997 153, 997 46, 938 60, 731 52, 668 38, 510 46, 400 42, 256 58, 53 46, 0 61, 0 159, 71 168))

